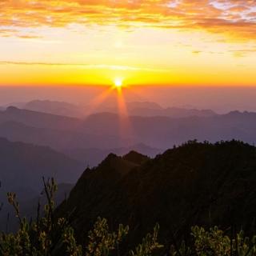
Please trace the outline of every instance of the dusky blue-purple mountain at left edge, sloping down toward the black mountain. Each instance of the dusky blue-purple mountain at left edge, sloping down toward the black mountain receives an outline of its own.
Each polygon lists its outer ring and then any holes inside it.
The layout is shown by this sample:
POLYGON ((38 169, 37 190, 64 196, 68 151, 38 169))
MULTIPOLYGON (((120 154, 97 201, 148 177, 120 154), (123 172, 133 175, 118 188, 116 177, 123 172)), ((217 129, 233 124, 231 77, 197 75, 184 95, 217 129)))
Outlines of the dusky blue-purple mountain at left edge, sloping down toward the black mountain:
POLYGON ((3 191, 41 190, 42 176, 75 182, 84 168, 50 147, 9 142, 6 138, 0 138, 0 166, 3 191))

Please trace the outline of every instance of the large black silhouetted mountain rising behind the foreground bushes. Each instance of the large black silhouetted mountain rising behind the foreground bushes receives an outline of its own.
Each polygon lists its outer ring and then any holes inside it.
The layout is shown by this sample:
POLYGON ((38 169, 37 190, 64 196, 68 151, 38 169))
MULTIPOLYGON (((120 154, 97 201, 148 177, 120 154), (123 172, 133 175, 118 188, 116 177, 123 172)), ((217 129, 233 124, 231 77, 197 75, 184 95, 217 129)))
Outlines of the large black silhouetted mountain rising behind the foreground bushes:
POLYGON ((216 144, 188 142, 154 159, 135 152, 126 157, 110 154, 97 168, 87 169, 58 208, 70 219, 79 241, 98 216, 130 225, 131 246, 154 224, 160 241, 190 232, 190 226, 255 232, 256 148, 243 142, 216 144), (132 158, 130 158, 132 156, 132 158), (135 159, 135 161, 134 161, 135 159), (131 160, 132 162, 130 162, 131 160))

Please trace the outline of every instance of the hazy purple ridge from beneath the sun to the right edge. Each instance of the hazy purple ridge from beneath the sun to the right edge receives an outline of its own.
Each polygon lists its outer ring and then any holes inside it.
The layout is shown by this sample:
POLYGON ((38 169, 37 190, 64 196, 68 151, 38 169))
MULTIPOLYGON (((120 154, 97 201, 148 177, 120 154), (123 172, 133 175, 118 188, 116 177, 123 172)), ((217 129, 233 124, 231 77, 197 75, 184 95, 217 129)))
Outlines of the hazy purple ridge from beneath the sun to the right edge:
MULTIPOLYGON (((113 136, 119 134, 120 122, 122 118, 116 114, 94 114, 85 120, 82 130, 87 134, 94 132, 113 136)), ((210 142, 233 138, 250 143, 256 141, 255 113, 234 112, 208 118, 130 117, 129 122, 133 142, 162 149, 194 138, 210 142)))

